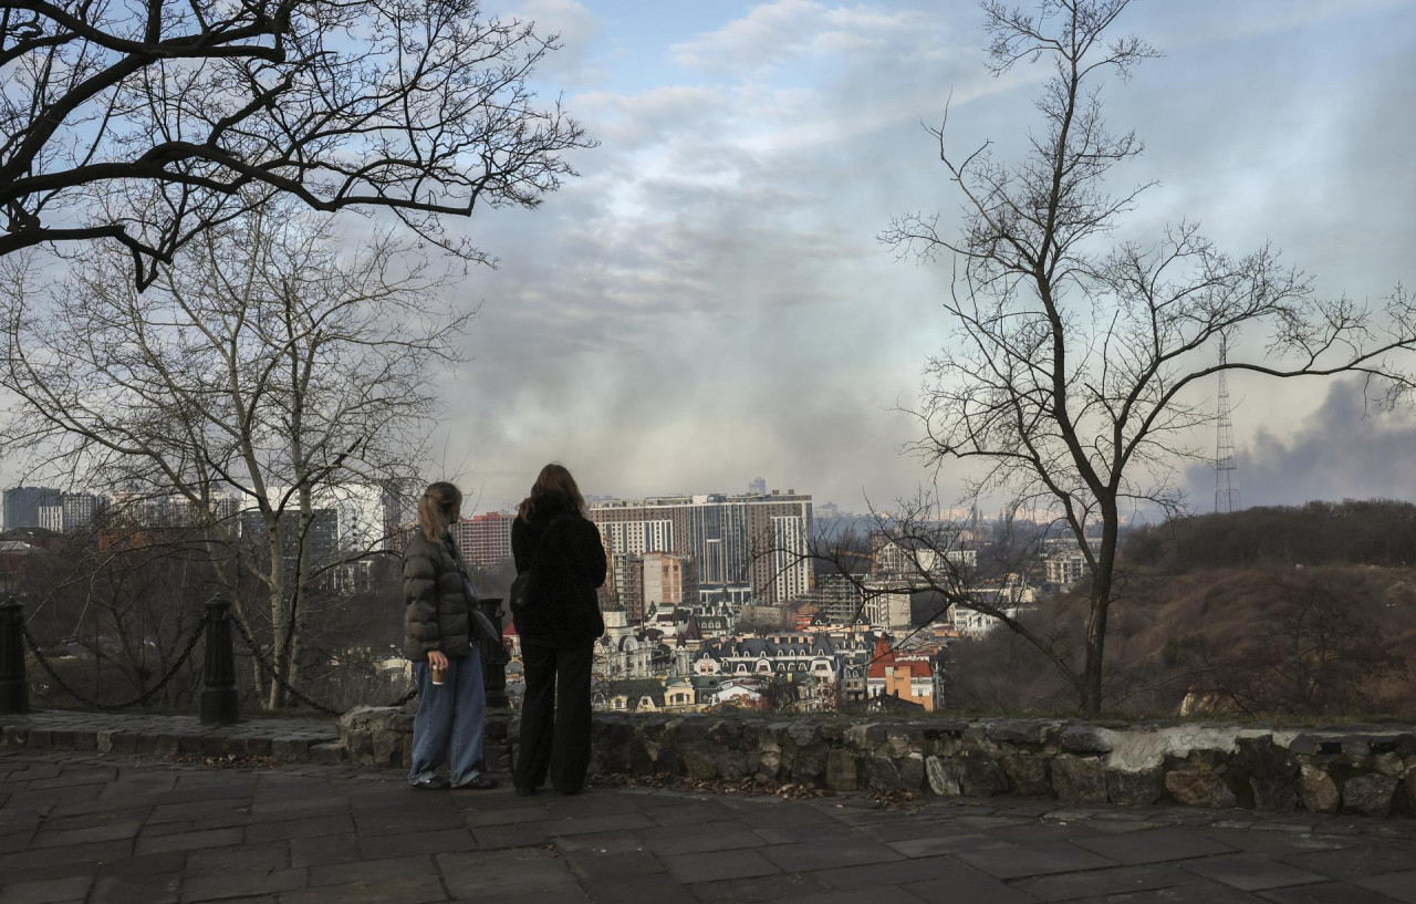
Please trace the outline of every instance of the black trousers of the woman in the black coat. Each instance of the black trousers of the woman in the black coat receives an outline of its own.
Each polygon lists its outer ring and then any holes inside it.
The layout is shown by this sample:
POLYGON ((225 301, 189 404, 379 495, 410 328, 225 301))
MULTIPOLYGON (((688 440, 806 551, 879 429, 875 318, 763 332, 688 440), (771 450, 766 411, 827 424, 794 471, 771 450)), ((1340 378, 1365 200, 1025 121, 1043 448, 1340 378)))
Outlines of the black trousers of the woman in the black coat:
POLYGON ((539 788, 547 772, 559 793, 585 786, 590 765, 590 663, 595 645, 541 646, 521 640, 527 693, 521 701, 521 744, 513 774, 517 788, 539 788))

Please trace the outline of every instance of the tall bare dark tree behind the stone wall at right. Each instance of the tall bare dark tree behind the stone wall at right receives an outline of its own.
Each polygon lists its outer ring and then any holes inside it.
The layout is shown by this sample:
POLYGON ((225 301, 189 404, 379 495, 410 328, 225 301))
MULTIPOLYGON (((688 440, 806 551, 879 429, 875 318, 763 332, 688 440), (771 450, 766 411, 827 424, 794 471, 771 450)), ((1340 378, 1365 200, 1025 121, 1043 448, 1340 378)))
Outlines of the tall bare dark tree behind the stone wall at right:
POLYGON ((1141 143, 1106 128, 1099 84, 1157 51, 1109 38, 1129 0, 1039 0, 1035 14, 981 6, 994 74, 1046 61, 1052 75, 1037 101, 1042 126, 1015 163, 988 143, 952 150, 947 113, 932 130, 963 196, 957 235, 916 214, 881 237, 901 255, 954 262, 944 309, 956 334, 927 364, 915 451, 935 468, 980 462, 971 499, 1008 495, 1076 538, 1090 571, 1086 656, 1080 669, 1058 667, 1080 707, 1097 713, 1121 517, 1131 506, 1181 509, 1174 462, 1199 453, 1191 443, 1211 417, 1206 381, 1225 368, 1357 373, 1391 401, 1412 387, 1403 358, 1416 347, 1416 312, 1400 288, 1375 307, 1320 299, 1270 248, 1231 256, 1194 222, 1106 249, 1146 186, 1112 194, 1116 167, 1141 143))

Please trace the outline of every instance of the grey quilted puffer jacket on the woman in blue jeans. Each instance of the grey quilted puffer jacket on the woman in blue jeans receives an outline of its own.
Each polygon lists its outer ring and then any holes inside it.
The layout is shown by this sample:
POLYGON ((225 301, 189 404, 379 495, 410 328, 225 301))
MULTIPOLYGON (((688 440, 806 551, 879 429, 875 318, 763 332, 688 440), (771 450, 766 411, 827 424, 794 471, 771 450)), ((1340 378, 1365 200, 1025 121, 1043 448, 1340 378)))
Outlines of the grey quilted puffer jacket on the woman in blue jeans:
POLYGON ((413 531, 404 547, 404 656, 428 662, 428 653, 472 653, 467 594, 457 571, 452 537, 429 540, 413 531))

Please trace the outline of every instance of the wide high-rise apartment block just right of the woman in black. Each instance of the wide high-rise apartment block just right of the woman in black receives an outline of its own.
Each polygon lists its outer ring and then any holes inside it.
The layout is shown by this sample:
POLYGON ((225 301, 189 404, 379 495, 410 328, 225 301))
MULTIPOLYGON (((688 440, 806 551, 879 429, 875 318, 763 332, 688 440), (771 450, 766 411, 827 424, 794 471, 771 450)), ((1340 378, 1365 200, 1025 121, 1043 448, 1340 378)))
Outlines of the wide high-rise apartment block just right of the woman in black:
POLYGON ((746 582, 760 602, 784 604, 811 589, 809 495, 610 499, 589 510, 612 555, 692 557, 702 591, 746 582))

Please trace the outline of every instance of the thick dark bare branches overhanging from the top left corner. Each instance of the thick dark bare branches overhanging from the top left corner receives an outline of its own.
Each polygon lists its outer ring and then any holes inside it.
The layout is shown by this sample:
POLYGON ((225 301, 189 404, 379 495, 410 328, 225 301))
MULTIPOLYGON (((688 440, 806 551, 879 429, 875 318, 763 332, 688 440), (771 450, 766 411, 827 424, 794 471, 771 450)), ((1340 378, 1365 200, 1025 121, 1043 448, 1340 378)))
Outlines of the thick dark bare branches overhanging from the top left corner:
POLYGON ((112 239, 144 288, 275 193, 486 261, 440 218, 535 207, 592 145, 527 85, 556 48, 479 0, 7 3, 0 255, 112 239))

